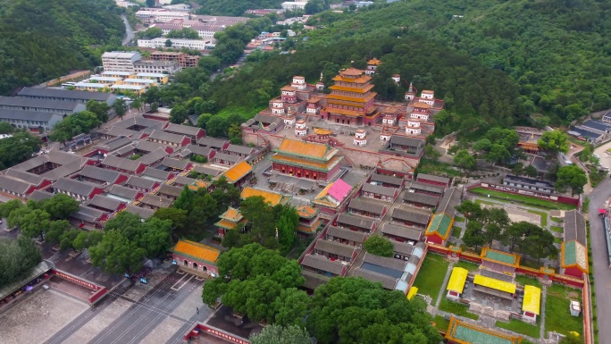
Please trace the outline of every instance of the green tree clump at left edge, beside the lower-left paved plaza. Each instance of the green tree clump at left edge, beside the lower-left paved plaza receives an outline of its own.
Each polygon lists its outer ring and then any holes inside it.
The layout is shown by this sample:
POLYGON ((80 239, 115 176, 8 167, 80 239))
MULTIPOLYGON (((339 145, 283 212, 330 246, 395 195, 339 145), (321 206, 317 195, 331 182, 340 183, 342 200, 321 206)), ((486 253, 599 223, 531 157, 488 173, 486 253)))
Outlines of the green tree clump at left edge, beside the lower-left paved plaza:
POLYGON ((19 281, 41 260, 42 255, 31 239, 24 236, 17 239, 0 238, 0 288, 19 281))

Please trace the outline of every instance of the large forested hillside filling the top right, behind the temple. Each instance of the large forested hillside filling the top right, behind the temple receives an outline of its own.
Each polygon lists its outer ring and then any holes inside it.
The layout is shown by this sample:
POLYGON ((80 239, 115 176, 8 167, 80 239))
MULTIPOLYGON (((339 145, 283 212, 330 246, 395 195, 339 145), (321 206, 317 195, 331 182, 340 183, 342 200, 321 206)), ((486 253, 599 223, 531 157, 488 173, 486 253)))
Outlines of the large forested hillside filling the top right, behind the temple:
POLYGON ((506 72, 520 103, 552 122, 611 107, 609 1, 411 0, 359 12, 322 13, 306 44, 404 31, 506 72))

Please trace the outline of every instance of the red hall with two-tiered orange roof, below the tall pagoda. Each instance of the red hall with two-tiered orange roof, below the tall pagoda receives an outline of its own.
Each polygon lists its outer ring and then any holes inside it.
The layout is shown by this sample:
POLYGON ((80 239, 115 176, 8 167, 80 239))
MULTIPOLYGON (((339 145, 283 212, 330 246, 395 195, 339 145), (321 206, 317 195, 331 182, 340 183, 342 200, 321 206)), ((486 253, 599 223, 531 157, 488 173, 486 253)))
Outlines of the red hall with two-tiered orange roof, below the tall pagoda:
POLYGON ((274 171, 297 178, 330 180, 339 172, 339 150, 328 145, 284 138, 272 156, 274 171))

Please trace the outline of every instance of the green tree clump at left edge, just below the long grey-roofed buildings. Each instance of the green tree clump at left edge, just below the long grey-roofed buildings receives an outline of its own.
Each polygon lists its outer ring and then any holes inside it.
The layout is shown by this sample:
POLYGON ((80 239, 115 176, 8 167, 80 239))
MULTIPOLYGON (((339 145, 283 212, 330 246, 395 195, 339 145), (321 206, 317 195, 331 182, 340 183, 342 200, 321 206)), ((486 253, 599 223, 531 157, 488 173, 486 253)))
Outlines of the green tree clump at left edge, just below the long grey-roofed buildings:
POLYGON ((40 150, 42 141, 26 130, 18 130, 11 138, 0 140, 0 169, 20 164, 40 150))

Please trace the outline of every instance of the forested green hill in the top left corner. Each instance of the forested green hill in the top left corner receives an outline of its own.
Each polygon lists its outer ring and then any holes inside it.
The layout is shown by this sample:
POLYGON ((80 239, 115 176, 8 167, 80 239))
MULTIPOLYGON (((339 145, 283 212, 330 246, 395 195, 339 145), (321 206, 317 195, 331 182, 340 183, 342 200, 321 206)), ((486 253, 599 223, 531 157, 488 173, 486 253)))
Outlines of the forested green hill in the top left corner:
POLYGON ((113 0, 0 0, 0 95, 99 65, 94 45, 121 45, 113 0))

